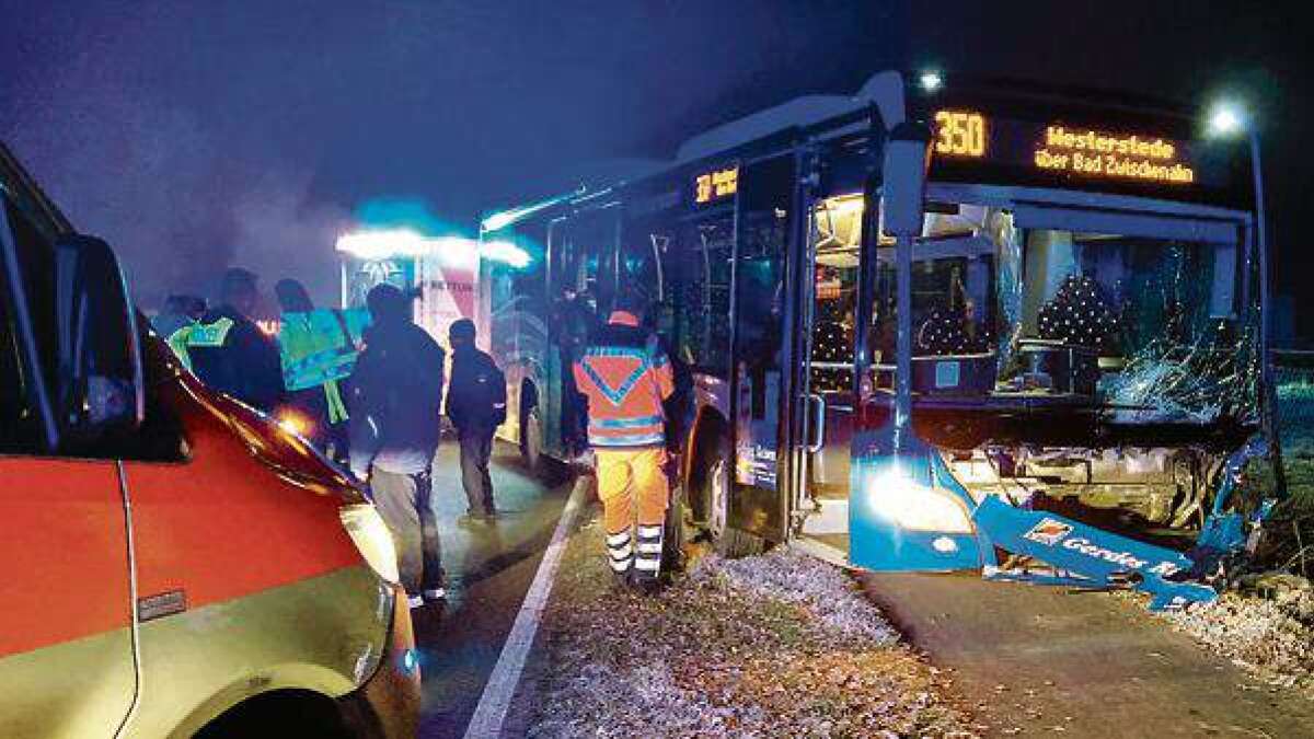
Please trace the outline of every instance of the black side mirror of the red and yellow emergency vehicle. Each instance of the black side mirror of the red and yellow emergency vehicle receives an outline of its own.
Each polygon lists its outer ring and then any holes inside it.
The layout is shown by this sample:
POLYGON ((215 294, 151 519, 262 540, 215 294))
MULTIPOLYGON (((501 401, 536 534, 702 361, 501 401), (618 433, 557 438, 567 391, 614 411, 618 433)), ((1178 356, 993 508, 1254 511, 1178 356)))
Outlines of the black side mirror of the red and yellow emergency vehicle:
POLYGON ((60 447, 138 427, 146 416, 137 310, 114 250, 70 235, 55 245, 59 358, 51 402, 60 447))

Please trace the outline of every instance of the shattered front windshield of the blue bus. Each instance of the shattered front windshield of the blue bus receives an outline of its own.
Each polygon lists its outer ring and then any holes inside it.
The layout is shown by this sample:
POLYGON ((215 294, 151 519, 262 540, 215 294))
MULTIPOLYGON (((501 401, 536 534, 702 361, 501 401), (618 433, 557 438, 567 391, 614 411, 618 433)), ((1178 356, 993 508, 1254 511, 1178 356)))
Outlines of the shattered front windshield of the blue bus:
MULTIPOLYGON (((1238 309, 1239 229, 1146 218, 1118 233, 1084 227, 1081 212, 1063 221, 932 204, 913 250, 915 360, 987 364, 995 381, 980 391, 996 398, 1088 398, 1114 422, 1252 419, 1256 331, 1238 309)), ((876 251, 880 367, 894 362, 895 280, 894 249, 876 251)))

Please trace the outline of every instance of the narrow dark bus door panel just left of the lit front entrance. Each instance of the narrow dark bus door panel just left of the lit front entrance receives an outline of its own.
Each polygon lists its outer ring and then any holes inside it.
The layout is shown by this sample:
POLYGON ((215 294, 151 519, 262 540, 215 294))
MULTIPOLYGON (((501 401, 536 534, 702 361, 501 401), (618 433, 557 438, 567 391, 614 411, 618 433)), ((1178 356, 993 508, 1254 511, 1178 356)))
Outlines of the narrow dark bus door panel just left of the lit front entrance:
POLYGON ((804 404, 796 398, 803 280, 798 158, 784 154, 738 170, 733 279, 731 416, 733 469, 728 522, 758 536, 788 534, 796 487, 792 450, 804 404))

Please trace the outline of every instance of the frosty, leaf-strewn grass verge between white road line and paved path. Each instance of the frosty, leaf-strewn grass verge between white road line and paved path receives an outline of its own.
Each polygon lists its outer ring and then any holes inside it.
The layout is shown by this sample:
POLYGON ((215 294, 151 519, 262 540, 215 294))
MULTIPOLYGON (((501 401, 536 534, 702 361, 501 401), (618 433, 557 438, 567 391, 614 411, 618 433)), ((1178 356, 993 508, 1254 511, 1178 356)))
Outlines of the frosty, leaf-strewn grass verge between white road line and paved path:
POLYGON ((543 621, 528 735, 972 736, 953 680, 838 569, 707 555, 660 596, 614 589, 600 531, 572 540, 543 621))

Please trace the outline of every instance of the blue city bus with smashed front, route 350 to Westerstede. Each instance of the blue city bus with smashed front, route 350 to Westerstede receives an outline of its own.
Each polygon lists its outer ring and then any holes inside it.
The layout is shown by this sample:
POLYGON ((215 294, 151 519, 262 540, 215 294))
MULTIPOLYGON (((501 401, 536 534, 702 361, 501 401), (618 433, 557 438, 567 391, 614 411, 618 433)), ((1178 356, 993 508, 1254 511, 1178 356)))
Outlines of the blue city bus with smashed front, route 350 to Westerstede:
POLYGON ((620 291, 687 368, 683 515, 727 548, 1134 586, 1208 577, 1272 501, 1265 245, 1243 141, 1091 91, 882 72, 674 160, 490 213, 509 439, 578 451, 620 291))

